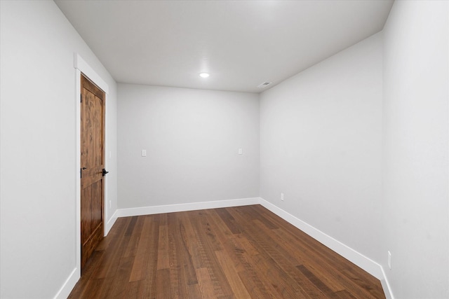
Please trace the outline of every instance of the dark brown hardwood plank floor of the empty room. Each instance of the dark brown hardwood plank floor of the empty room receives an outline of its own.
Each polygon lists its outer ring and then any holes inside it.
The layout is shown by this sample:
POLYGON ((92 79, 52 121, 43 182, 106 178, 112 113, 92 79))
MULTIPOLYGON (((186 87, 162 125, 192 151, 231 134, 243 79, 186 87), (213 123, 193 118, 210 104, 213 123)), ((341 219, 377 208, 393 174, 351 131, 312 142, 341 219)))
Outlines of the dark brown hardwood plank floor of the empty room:
POLYGON ((385 298, 260 205, 117 219, 69 298, 385 298))

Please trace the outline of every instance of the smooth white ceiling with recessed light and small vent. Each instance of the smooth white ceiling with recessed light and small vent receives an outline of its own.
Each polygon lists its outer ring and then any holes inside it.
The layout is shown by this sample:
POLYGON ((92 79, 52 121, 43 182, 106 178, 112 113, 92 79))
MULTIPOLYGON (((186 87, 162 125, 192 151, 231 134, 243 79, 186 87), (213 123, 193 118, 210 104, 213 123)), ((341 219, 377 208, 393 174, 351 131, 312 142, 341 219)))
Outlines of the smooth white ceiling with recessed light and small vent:
POLYGON ((393 0, 55 3, 119 83, 262 92, 382 30, 393 0))

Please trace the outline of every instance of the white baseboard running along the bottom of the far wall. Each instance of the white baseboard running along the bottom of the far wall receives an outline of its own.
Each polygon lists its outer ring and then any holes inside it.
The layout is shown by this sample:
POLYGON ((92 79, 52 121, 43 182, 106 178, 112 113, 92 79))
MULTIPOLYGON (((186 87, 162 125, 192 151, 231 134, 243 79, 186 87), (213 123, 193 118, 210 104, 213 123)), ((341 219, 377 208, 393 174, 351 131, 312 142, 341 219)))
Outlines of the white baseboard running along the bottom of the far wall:
POLYGON ((213 202, 193 202, 189 204, 168 204, 154 207, 139 207, 130 209, 117 209, 118 217, 152 215, 172 213, 175 211, 194 211, 199 209, 217 209, 224 207, 239 207, 250 204, 259 204, 260 197, 241 198, 239 200, 215 200, 213 202))

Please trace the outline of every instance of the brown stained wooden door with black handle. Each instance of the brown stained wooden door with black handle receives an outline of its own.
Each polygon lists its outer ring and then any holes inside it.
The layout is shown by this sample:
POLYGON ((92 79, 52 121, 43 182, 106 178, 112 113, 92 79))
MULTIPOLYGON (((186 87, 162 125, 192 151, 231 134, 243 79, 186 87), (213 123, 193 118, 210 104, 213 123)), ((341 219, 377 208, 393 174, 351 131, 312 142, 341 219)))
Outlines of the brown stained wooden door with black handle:
POLYGON ((81 75, 81 270, 105 235, 105 98, 81 75))

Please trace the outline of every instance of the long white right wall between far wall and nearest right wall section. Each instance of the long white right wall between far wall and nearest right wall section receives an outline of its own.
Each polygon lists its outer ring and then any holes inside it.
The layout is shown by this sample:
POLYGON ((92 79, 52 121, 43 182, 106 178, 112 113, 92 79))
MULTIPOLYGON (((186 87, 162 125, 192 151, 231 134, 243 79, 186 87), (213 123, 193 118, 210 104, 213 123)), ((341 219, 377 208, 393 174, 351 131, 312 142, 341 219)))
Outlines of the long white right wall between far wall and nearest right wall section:
POLYGON ((382 34, 261 95, 261 197, 373 260, 381 149, 382 34))

